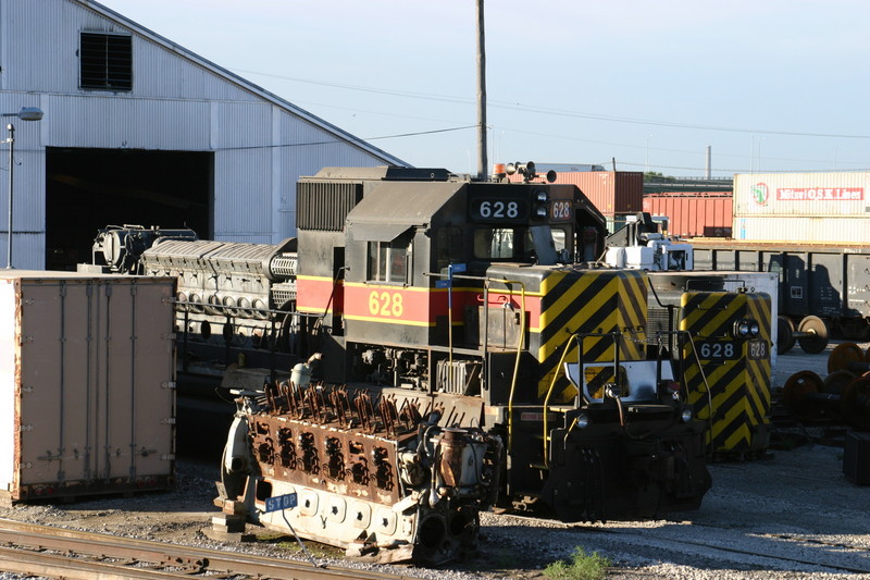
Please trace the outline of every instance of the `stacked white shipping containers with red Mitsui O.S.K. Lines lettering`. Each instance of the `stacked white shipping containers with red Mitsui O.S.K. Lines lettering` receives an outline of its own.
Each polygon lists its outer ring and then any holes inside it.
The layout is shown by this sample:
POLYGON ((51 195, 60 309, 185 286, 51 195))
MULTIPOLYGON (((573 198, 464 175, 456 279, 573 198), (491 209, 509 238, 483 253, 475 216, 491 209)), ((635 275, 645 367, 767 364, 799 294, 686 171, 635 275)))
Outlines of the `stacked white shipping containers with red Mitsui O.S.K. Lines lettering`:
POLYGON ((733 237, 867 243, 869 196, 870 172, 737 174, 733 237))

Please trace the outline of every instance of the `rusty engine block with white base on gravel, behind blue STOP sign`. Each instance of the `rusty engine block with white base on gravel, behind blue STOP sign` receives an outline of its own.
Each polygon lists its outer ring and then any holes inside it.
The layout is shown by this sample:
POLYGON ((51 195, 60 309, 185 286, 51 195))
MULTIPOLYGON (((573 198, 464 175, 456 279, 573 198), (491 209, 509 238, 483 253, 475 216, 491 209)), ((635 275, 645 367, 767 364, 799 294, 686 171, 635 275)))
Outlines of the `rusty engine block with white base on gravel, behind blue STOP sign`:
POLYGON ((473 551, 492 505, 500 439, 451 427, 424 395, 283 382, 237 392, 219 498, 225 511, 378 562, 446 562, 473 551), (295 509, 266 499, 297 494, 295 509))

